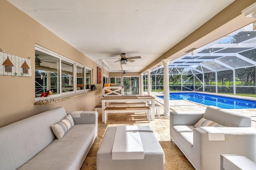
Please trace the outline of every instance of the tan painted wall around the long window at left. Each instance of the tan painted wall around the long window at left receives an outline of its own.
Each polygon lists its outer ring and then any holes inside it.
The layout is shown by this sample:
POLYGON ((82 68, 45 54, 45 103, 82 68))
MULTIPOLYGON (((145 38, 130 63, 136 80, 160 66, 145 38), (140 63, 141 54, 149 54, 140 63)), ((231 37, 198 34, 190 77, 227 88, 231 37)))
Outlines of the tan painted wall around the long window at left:
POLYGON ((56 104, 34 105, 35 44, 92 68, 92 82, 97 87, 102 87, 102 84, 97 84, 97 66, 102 66, 94 63, 6 0, 0 2, 0 16, 4 16, 1 17, 0 49, 4 53, 19 57, 30 57, 32 70, 32 77, 0 75, 0 127, 58 106, 63 106, 66 111, 92 110, 101 102, 102 88, 98 88, 97 92, 56 104))

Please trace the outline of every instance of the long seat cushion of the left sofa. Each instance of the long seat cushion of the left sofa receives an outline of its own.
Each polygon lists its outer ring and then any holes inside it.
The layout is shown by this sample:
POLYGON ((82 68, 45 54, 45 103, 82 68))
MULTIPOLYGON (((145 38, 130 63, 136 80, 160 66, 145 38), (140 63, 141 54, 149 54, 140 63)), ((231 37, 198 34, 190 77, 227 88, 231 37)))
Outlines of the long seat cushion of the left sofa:
POLYGON ((61 140, 55 139, 18 170, 79 170, 96 131, 96 124, 74 125, 61 140))

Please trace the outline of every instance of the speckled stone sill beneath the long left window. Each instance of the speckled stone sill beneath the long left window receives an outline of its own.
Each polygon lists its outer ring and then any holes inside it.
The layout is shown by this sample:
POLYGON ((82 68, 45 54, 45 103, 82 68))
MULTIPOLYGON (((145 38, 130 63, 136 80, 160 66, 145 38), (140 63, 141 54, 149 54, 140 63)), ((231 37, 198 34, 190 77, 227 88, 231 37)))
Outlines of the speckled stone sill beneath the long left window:
POLYGON ((58 102, 61 102, 61 101, 64 101, 64 100, 68 100, 68 99, 72 99, 72 98, 76 98, 76 97, 79 97, 79 96, 83 96, 83 95, 86 95, 86 94, 89 94, 89 93, 92 93, 92 92, 97 92, 99 90, 91 90, 91 91, 86 91, 86 92, 82 92, 82 93, 78 93, 78 94, 72 94, 72 95, 68 95, 68 96, 62 96, 60 98, 54 98, 54 100, 50 100, 50 101, 45 101, 44 102, 35 102, 34 105, 46 105, 46 104, 55 104, 55 103, 58 103, 58 102))

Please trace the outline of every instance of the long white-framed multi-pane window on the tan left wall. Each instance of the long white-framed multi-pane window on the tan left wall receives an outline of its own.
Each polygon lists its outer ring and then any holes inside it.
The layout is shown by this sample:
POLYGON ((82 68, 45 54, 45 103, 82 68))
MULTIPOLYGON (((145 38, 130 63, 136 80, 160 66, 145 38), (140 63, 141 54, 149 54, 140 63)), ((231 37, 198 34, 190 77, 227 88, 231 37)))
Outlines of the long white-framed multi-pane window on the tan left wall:
POLYGON ((52 98, 91 88, 92 68, 83 66, 47 49, 35 47, 35 97, 52 89, 52 98), (61 76, 60 76, 61 75, 61 76), (75 81, 74 81, 75 80, 75 81))

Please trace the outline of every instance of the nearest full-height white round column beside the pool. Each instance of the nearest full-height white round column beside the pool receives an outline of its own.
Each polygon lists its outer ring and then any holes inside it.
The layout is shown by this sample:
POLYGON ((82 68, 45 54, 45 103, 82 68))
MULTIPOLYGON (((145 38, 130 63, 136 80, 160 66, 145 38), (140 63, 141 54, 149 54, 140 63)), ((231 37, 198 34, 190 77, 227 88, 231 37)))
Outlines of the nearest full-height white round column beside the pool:
POLYGON ((162 60, 164 64, 164 116, 170 116, 170 89, 169 89, 169 63, 170 60, 162 60))

